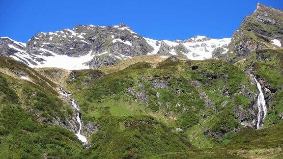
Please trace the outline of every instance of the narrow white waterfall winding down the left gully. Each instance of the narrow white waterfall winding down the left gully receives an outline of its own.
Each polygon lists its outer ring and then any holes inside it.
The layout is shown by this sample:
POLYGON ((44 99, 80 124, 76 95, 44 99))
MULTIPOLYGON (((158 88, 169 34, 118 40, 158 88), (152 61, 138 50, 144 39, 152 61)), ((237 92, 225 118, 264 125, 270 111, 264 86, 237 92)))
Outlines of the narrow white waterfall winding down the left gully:
POLYGON ((79 131, 76 133, 76 135, 78 136, 78 138, 79 138, 81 141, 83 141, 84 143, 86 143, 87 140, 86 140, 85 136, 83 136, 83 135, 81 134, 81 130, 82 130, 82 119, 81 119, 80 114, 79 114, 80 108, 79 108, 79 106, 75 103, 75 100, 72 99, 72 98, 70 97, 70 95, 64 90, 64 88, 61 87, 61 91, 62 91, 62 94, 63 94, 64 96, 68 97, 68 98, 71 100, 72 106, 76 109, 76 119, 77 119, 77 121, 78 121, 78 123, 79 123, 79 125, 80 125, 79 131))

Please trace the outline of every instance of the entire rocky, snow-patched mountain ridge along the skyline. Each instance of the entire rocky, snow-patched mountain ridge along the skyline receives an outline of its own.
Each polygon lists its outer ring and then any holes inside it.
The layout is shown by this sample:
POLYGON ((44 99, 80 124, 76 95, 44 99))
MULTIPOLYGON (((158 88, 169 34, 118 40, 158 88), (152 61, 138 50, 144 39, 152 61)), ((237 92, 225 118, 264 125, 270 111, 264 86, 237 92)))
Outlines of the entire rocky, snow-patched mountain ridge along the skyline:
POLYGON ((78 25, 73 29, 39 32, 27 44, 0 38, 0 55, 11 56, 30 67, 67 70, 96 69, 146 54, 179 55, 192 60, 221 58, 236 62, 257 49, 282 48, 283 11, 257 4, 232 38, 195 36, 187 40, 153 40, 130 27, 78 25))

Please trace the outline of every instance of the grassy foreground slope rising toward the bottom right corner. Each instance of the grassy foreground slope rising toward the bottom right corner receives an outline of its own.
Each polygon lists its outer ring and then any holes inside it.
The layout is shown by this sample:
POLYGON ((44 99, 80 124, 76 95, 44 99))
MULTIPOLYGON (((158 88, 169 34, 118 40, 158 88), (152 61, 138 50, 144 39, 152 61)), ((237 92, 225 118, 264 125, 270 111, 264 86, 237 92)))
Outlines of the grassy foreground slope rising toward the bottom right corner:
POLYGON ((262 130, 244 129, 225 146, 167 153, 154 158, 281 158, 283 123, 262 130))

